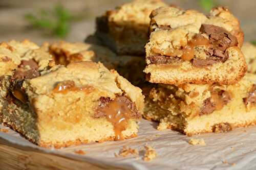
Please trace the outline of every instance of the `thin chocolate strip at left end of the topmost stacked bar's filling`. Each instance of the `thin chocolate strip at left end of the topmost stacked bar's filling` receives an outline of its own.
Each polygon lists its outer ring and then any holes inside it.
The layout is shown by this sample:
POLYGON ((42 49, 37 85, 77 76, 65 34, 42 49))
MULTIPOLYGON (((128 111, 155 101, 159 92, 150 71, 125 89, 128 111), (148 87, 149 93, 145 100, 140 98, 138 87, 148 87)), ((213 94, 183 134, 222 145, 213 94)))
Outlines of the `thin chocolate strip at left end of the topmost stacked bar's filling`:
POLYGON ((181 59, 179 57, 168 57, 168 56, 149 56, 147 57, 151 64, 174 64, 180 63, 181 59))

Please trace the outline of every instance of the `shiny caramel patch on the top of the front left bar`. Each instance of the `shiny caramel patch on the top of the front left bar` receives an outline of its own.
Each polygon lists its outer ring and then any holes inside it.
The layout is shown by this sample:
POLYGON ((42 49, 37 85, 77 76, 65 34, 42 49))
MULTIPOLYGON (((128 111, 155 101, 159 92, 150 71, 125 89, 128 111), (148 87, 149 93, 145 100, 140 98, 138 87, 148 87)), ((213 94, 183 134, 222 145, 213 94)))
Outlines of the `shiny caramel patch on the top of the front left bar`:
POLYGON ((88 92, 90 92, 92 89, 93 88, 91 86, 77 87, 74 81, 67 80, 58 83, 53 89, 53 92, 67 94, 69 91, 87 90, 88 92))

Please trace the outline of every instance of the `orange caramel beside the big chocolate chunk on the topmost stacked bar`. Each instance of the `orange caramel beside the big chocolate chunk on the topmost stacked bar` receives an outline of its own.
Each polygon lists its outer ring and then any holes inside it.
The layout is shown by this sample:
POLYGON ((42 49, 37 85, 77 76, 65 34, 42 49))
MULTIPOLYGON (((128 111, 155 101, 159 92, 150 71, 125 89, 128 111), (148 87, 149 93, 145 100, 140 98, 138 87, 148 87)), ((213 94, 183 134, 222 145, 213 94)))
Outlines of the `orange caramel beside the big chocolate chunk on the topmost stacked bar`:
POLYGON ((192 60, 195 56, 194 47, 199 45, 209 45, 209 40, 200 34, 196 35, 184 47, 181 59, 184 61, 192 60))

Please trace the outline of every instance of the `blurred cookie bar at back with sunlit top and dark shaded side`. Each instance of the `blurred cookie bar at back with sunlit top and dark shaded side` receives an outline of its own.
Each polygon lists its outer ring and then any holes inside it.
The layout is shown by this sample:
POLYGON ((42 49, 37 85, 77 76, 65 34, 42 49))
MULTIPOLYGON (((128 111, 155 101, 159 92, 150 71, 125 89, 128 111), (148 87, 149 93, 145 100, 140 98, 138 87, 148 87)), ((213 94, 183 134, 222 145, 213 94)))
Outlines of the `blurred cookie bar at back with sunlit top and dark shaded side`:
POLYGON ((102 43, 119 55, 144 55, 152 10, 167 6, 160 0, 136 0, 96 19, 102 43))

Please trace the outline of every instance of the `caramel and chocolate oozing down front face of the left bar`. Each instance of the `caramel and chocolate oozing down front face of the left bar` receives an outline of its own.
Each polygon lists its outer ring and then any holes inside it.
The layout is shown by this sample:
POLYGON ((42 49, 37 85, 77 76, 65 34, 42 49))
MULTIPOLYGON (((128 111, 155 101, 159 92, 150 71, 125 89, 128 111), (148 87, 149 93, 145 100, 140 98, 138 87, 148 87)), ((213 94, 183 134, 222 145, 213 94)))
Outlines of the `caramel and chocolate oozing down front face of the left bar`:
POLYGON ((135 104, 125 96, 117 96, 113 101, 101 98, 94 117, 102 116, 114 126, 115 140, 123 140, 122 131, 127 128, 129 119, 140 117, 135 104))

